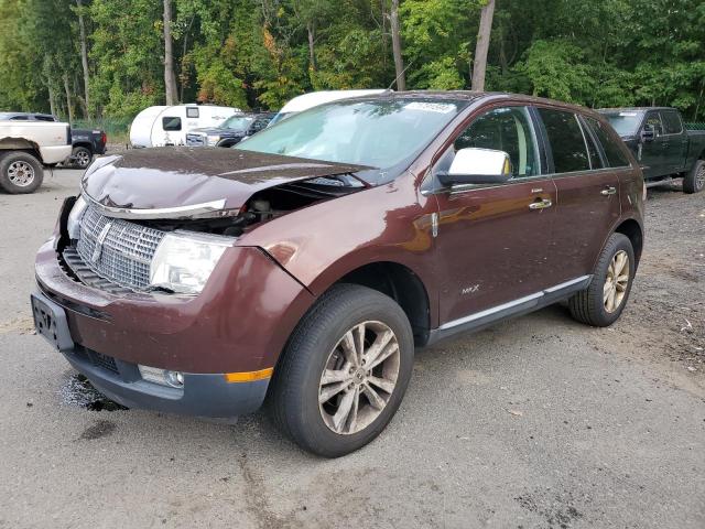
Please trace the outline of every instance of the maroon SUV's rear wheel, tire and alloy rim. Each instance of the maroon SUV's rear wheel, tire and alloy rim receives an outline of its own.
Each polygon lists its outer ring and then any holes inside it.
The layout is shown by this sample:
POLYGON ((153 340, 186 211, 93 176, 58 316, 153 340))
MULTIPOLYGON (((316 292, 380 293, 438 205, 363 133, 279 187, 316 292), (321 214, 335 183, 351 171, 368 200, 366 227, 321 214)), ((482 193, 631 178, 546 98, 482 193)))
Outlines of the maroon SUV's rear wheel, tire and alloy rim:
POLYGON ((597 260, 589 287, 568 300, 571 315, 594 327, 615 323, 627 305, 634 270, 631 240, 626 235, 612 234, 597 260))

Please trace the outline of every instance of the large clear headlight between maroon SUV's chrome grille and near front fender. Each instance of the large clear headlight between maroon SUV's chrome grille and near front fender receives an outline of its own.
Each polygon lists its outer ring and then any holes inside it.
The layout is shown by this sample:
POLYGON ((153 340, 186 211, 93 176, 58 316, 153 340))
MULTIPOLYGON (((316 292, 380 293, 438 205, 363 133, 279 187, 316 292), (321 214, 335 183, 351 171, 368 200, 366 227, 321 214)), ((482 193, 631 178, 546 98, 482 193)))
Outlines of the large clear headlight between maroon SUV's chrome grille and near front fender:
POLYGON ((156 247, 150 266, 150 285, 182 294, 199 293, 232 237, 174 231, 156 247))

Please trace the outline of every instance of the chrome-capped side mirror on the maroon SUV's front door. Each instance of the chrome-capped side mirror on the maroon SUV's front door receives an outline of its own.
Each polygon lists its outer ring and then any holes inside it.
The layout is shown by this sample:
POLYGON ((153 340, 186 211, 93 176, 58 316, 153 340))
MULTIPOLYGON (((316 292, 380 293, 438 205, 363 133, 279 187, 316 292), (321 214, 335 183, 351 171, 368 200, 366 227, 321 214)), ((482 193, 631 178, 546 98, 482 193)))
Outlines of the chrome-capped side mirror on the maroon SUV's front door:
POLYGON ((457 184, 499 184, 511 179, 511 162, 505 151, 467 148, 455 153, 451 169, 438 173, 445 186, 457 184))

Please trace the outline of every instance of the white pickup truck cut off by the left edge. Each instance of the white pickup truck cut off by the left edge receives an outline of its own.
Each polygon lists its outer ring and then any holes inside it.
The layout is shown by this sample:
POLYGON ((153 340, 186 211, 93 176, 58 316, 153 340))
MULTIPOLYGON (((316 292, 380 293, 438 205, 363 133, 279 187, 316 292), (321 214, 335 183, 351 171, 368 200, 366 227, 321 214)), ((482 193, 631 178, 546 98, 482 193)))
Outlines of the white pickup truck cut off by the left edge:
POLYGON ((66 160, 70 143, 68 123, 0 120, 0 187, 33 193, 42 185, 44 166, 66 160))

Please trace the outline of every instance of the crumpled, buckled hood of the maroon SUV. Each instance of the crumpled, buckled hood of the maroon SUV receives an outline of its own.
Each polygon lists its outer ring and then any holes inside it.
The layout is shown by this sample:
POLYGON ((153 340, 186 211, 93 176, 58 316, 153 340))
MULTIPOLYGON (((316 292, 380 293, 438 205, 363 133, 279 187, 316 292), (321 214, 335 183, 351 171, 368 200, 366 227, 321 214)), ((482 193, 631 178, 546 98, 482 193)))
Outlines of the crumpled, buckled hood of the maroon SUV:
MULTIPOLYGON (((236 149, 166 147, 134 149, 97 159, 82 181, 85 195, 119 209, 167 209, 219 202, 239 210, 258 191, 365 166, 236 149)), ((187 217, 185 214, 178 218, 187 217)))

